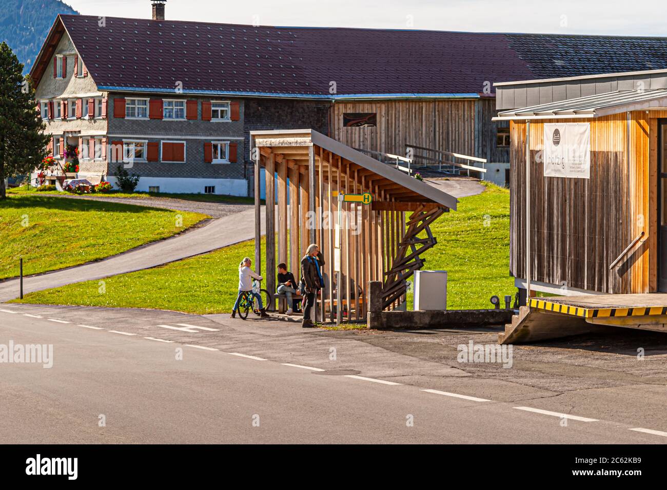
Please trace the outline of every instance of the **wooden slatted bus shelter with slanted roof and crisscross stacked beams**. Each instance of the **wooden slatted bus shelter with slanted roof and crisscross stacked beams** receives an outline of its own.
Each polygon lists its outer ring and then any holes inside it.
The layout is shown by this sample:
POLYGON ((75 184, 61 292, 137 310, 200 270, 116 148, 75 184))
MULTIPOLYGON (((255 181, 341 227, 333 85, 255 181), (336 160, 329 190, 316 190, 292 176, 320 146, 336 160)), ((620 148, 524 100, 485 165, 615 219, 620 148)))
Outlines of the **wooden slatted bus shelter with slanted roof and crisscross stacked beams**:
POLYGON ((408 279, 425 263, 420 254, 436 245, 430 224, 457 199, 311 129, 252 131, 251 144, 255 189, 261 169, 267 182, 265 257, 255 192, 255 267, 266 271, 267 291, 275 291, 276 265, 298 276, 315 243, 325 261, 315 319, 333 321, 340 304, 338 321, 365 321, 370 281, 382 281, 384 309, 402 307, 408 279))

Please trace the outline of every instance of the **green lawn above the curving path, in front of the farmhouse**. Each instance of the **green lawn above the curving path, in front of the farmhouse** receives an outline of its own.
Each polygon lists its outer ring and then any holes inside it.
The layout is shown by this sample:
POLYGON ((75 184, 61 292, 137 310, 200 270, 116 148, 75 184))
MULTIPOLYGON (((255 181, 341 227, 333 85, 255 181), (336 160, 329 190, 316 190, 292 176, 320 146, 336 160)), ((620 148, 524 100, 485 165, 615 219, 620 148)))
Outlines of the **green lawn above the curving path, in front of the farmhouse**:
POLYGON ((19 275, 19 257, 25 275, 53 271, 169 237, 205 218, 41 192, 8 193, 0 201, 0 279, 19 275))

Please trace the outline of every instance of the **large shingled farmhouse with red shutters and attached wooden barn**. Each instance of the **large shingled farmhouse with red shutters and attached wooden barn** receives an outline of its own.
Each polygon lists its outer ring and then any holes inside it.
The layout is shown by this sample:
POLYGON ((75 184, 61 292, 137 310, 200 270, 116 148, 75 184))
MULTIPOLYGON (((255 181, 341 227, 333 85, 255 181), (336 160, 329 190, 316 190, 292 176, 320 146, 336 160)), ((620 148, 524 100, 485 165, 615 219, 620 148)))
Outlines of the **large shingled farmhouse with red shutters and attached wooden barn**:
POLYGON ((141 191, 249 195, 250 131, 310 128, 504 184, 492 81, 667 68, 663 38, 255 27, 152 3, 153 19, 59 15, 31 69, 49 151, 77 149, 77 177, 114 183, 123 163, 141 191))

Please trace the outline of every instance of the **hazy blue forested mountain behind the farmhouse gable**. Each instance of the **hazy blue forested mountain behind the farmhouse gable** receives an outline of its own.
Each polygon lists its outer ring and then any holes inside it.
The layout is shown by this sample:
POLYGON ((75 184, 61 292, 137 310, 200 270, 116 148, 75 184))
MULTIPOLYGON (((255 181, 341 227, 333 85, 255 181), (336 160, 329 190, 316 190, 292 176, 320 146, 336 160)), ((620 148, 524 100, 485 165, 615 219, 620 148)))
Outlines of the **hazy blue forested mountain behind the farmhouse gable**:
POLYGON ((77 14, 60 0, 1 0, 0 42, 11 47, 28 73, 59 13, 77 14))

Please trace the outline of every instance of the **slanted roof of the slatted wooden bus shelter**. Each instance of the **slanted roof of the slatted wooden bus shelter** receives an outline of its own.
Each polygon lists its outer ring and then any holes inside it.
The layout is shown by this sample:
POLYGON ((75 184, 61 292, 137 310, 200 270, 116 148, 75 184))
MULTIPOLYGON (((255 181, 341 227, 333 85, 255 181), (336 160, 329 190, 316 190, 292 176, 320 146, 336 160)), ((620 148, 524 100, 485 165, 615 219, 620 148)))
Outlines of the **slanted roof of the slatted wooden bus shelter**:
POLYGON ((359 169, 372 189, 384 191, 388 199, 406 203, 434 203, 456 210, 458 199, 426 182, 414 179, 394 167, 331 139, 313 129, 251 131, 251 147, 280 153, 287 163, 309 165, 308 147, 313 145, 340 156, 359 169))

